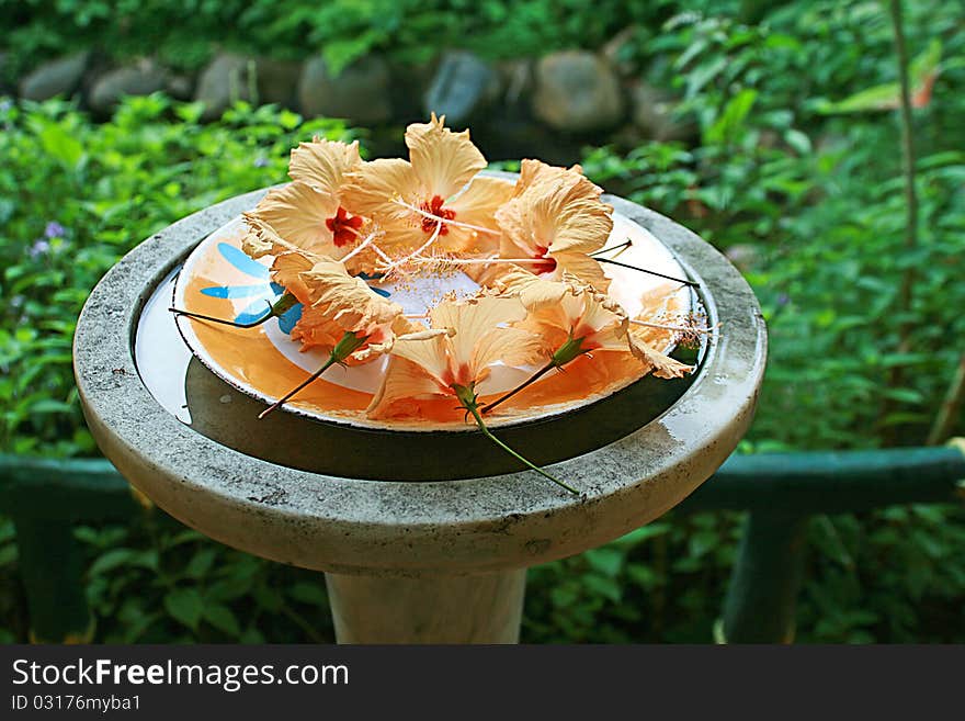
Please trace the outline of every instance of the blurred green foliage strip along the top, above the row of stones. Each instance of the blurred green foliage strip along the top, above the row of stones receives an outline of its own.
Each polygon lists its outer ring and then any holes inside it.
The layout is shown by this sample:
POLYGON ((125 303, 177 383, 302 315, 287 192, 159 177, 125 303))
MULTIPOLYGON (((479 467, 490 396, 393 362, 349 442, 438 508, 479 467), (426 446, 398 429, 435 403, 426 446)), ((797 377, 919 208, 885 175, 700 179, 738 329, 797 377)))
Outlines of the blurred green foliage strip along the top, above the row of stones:
POLYGON ((599 47, 634 23, 658 24, 672 5, 669 0, 0 0, 0 32, 14 56, 12 71, 88 47, 115 59, 155 48, 169 65, 196 69, 224 46, 286 59, 321 53, 338 72, 370 52, 420 64, 447 47, 492 59, 599 47))

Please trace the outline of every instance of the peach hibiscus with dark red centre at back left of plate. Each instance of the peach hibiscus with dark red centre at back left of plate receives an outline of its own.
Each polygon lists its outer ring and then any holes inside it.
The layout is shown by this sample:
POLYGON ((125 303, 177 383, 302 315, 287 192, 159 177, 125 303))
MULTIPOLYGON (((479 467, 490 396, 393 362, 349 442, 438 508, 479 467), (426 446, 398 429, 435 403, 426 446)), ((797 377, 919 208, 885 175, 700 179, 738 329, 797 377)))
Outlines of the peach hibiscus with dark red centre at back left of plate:
POLYGON ((357 140, 348 145, 314 138, 292 150, 292 182, 272 190, 245 214, 242 248, 252 258, 300 250, 315 257, 347 256, 363 237, 366 221, 343 204, 345 176, 362 164, 357 140))

